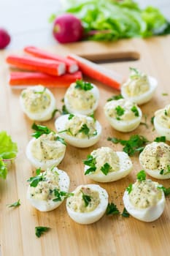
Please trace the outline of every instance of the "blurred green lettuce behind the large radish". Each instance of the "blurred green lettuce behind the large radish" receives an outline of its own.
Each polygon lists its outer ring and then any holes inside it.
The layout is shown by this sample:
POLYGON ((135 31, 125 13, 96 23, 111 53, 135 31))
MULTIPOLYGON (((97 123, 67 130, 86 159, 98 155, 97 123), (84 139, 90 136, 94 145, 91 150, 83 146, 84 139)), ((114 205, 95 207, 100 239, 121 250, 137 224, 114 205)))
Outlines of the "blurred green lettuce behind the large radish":
MULTIPOLYGON (((85 39, 111 41, 121 38, 168 34, 169 22, 155 7, 140 9, 132 0, 63 0, 63 12, 82 20, 85 39)), ((55 16, 53 15, 53 18, 55 16)))

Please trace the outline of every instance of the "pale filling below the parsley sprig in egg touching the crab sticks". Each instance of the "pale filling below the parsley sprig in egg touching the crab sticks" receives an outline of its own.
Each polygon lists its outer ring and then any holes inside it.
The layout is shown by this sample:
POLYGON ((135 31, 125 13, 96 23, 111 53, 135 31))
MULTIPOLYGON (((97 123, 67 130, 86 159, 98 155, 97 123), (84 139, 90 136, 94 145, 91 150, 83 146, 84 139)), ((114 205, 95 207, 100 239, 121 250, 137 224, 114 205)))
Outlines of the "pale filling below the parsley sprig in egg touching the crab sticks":
POLYGON ((85 91, 75 88, 76 83, 72 83, 69 89, 66 91, 66 99, 70 108, 77 110, 93 109, 96 104, 96 99, 93 96, 92 91, 85 91))

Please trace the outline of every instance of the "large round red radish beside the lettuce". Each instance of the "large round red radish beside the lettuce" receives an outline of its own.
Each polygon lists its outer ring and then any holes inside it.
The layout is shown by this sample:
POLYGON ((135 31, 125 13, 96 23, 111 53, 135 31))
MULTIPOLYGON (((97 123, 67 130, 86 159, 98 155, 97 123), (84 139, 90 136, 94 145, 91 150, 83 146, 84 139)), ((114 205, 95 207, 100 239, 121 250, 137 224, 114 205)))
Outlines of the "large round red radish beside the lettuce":
POLYGON ((77 42, 82 39, 82 34, 82 23, 74 15, 66 13, 55 19, 53 35, 58 42, 77 42))

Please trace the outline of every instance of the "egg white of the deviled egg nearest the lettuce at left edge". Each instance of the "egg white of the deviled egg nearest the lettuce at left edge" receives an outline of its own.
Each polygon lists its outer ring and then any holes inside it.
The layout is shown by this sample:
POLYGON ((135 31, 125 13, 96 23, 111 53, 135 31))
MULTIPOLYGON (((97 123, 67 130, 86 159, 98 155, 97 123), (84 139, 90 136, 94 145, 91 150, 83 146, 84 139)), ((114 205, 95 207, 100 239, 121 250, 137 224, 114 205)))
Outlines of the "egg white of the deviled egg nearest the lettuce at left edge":
POLYGON ((61 157, 58 157, 57 159, 48 159, 48 160, 39 160, 36 159, 32 152, 31 152, 31 148, 33 146, 34 141, 36 140, 36 138, 32 138, 29 142, 28 145, 26 147, 26 157, 28 158, 28 160, 31 162, 31 164, 36 167, 36 168, 41 168, 42 170, 46 170, 47 168, 53 167, 54 165, 57 166, 60 164, 60 162, 62 161, 65 152, 66 152, 66 146, 65 149, 63 150, 63 154, 61 155, 61 157))

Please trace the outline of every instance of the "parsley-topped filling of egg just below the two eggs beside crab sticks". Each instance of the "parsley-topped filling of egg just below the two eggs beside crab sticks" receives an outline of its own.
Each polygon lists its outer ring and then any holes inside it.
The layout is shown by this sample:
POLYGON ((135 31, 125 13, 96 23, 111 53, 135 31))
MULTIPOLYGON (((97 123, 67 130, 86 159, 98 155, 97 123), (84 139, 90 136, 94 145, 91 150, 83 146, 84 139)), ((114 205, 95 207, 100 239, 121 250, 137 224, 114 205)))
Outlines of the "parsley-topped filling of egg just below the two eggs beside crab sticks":
POLYGON ((76 138, 90 138, 97 135, 96 121, 86 116, 73 116, 66 122, 66 133, 76 138))

